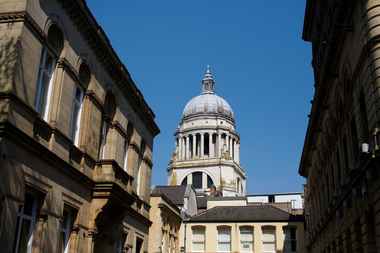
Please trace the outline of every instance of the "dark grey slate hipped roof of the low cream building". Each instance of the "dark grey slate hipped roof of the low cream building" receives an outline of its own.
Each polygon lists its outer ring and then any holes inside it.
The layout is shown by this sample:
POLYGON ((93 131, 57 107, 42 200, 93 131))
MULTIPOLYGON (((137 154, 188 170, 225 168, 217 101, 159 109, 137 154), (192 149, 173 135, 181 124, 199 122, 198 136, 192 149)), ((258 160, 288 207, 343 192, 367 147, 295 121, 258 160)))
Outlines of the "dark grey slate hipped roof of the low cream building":
POLYGON ((274 206, 216 206, 190 217, 188 222, 303 221, 274 206))

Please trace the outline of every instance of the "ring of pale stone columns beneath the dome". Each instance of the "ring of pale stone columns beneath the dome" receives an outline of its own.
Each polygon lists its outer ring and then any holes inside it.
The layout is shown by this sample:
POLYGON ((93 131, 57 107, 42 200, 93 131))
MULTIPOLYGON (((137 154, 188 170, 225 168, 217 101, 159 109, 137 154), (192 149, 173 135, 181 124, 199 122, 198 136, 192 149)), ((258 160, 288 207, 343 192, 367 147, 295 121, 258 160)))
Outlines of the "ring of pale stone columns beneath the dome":
MULTIPOLYGON (((224 133, 193 133, 179 136, 175 140, 178 147, 178 160, 189 160, 191 158, 221 157, 225 144, 228 155, 239 163, 240 141, 224 133), (205 134, 208 134, 208 143, 205 143, 205 134), (215 138, 213 138, 215 136, 215 138), (191 143, 190 143, 191 138, 191 143), (191 145, 191 146, 190 146, 191 145), (206 147, 206 149, 205 149, 206 147), (208 150, 208 153, 205 151, 208 150)), ((207 136, 207 135, 206 135, 207 136)), ((206 137, 207 138, 207 137, 206 137)))

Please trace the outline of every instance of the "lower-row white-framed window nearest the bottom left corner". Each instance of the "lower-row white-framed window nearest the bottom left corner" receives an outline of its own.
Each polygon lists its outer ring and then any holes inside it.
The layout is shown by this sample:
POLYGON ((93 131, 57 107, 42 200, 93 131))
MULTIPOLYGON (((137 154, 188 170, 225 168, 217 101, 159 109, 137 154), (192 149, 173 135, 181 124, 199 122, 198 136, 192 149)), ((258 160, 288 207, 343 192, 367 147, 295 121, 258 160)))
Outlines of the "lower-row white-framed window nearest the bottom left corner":
MULTIPOLYGON (((15 233, 15 244, 14 244, 14 252, 18 252, 19 250, 19 244, 20 244, 20 236, 21 236, 21 227, 22 227, 22 221, 24 219, 27 219, 30 221, 30 228, 28 231, 28 243, 26 247, 26 253, 31 253, 32 252, 32 243, 33 243, 33 233, 34 233, 34 227, 36 223, 36 215, 37 215, 37 201, 38 201, 38 195, 36 193, 33 193, 31 191, 25 191, 24 193, 24 204, 21 207, 21 212, 17 212, 17 223, 18 223, 18 228, 17 229, 17 234, 15 233), (33 205, 32 205, 32 215, 25 215, 24 214, 24 208, 25 208, 25 198, 26 194, 30 194, 33 196, 33 205)), ((17 226, 17 225, 16 225, 17 226)))

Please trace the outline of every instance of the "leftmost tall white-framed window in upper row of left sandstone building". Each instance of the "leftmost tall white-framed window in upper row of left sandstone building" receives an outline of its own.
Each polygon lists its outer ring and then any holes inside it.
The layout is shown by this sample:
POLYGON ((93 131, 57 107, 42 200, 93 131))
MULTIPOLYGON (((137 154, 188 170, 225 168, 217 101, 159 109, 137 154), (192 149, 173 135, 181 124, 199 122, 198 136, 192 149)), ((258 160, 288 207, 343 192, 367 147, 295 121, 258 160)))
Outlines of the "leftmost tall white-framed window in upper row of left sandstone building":
POLYGON ((47 115, 49 113, 56 62, 57 60, 54 54, 52 54, 46 47, 43 47, 41 51, 40 63, 38 64, 38 76, 33 104, 36 106, 36 111, 40 114, 41 119, 43 119, 44 121, 47 121, 47 115), (47 70, 43 65, 43 63, 46 61, 47 56, 50 57, 50 71, 47 70), (45 85, 43 84, 43 75, 49 78, 49 81, 47 82, 47 87, 45 87, 45 85), (46 93, 44 94, 44 92, 46 93))

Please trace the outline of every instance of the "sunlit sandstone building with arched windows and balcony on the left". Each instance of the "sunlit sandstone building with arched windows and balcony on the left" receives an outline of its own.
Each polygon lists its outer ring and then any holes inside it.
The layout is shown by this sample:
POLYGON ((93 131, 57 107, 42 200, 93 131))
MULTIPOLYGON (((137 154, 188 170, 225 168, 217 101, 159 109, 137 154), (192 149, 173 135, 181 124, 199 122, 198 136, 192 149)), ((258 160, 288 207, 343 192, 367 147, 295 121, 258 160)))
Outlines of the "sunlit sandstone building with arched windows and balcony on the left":
POLYGON ((147 252, 154 113, 83 0, 0 3, 2 252, 147 252))

